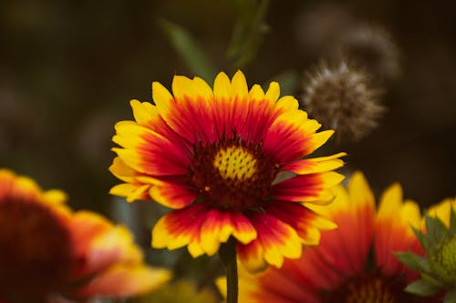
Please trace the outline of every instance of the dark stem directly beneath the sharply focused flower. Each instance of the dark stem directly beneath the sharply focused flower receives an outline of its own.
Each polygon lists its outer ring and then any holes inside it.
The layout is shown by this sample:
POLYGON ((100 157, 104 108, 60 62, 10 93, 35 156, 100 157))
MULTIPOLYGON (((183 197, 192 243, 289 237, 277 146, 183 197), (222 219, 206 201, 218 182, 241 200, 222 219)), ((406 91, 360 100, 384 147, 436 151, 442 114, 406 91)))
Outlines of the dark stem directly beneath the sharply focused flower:
POLYGON ((220 247, 219 257, 226 268, 226 303, 237 303, 238 277, 236 261, 236 240, 230 237, 220 247))

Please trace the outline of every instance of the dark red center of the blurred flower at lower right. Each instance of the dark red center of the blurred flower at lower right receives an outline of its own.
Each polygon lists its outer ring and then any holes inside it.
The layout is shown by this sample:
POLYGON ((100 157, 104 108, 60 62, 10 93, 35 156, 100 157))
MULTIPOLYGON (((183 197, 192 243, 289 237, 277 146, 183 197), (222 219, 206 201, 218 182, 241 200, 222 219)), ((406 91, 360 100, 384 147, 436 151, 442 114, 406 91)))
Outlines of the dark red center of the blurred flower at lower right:
POLYGON ((415 302, 414 296, 403 291, 406 285, 402 277, 385 277, 379 273, 370 273, 360 277, 348 278, 338 288, 326 294, 325 302, 415 302))

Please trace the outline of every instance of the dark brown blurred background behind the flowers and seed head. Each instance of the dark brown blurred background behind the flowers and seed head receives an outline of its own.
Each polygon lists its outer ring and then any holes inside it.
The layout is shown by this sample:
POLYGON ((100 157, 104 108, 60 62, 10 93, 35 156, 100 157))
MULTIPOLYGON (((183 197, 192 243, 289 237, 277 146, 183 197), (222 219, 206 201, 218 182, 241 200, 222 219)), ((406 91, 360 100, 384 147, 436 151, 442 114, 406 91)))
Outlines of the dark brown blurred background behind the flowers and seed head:
POLYGON ((326 151, 346 151, 344 172, 363 170, 377 194, 399 181, 425 207, 456 196, 455 20, 451 1, 3 0, 0 167, 64 189, 72 207, 130 220, 149 247, 163 210, 108 194, 110 138, 132 118, 130 99, 151 101, 151 82, 171 87, 175 74, 212 83, 237 68, 250 86, 278 78, 302 99, 308 73, 344 54, 385 111, 326 151))

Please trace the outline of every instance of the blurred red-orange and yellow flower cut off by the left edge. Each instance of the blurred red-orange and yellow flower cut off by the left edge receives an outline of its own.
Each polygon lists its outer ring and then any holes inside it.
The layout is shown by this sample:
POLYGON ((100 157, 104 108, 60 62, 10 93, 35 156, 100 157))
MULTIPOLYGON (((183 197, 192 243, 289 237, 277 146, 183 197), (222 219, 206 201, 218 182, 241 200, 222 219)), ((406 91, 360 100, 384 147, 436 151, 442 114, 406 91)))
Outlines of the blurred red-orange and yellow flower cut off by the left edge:
POLYGON ((143 263, 125 227, 73 212, 65 200, 59 190, 0 169, 0 301, 126 297, 170 278, 143 263))

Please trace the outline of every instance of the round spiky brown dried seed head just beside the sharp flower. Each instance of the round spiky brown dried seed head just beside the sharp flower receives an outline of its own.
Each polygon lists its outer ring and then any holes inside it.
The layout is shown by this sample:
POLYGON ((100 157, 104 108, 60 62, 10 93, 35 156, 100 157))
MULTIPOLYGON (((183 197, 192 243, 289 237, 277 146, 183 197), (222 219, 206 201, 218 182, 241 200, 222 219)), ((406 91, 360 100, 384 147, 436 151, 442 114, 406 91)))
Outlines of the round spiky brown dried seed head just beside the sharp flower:
POLYGON ((359 139, 378 125, 384 112, 380 92, 369 86, 367 74, 345 62, 336 68, 321 64, 304 83, 303 106, 328 128, 336 130, 337 141, 359 139))

